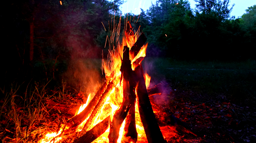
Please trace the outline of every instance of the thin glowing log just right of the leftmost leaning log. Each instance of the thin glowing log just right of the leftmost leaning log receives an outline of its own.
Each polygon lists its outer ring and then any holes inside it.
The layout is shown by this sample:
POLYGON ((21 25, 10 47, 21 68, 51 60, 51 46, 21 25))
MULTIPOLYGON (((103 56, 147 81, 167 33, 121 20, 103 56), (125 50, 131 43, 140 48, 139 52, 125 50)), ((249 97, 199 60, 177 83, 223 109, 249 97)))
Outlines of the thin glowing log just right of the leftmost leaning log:
MULTIPOLYGON (((117 77, 118 78, 118 77, 117 77)), ((100 112, 102 106, 105 104, 107 97, 110 95, 111 91, 113 90, 114 87, 116 87, 117 85, 117 79, 114 78, 107 86, 107 89, 105 90, 105 92, 103 93, 103 95, 101 96, 99 102, 97 103, 97 105, 94 107, 92 113, 90 114, 90 117, 88 118, 88 120, 86 121, 83 129, 85 129, 86 131, 88 131, 90 129, 90 126, 92 125, 92 123, 95 121, 95 119, 97 118, 97 113, 100 112)))

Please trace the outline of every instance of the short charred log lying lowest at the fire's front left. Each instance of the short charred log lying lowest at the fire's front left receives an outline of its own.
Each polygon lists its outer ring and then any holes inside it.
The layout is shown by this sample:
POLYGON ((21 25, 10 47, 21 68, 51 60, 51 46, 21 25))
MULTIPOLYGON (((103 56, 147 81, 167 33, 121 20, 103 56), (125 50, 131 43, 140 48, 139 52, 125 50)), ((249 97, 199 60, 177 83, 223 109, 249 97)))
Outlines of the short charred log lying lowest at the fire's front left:
POLYGON ((100 137, 109 127, 110 116, 101 121, 99 124, 94 126, 91 130, 86 132, 80 138, 78 138, 74 143, 91 143, 98 137, 100 137))

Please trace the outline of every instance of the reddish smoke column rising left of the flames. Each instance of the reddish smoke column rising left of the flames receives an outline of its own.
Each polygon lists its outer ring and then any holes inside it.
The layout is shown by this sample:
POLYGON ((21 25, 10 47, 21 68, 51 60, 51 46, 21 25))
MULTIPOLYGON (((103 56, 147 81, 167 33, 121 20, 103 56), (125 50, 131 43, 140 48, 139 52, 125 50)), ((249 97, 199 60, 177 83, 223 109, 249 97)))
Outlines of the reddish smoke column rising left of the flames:
MULTIPOLYGON (((89 29, 88 14, 83 10, 63 16, 64 47, 69 49, 64 81, 77 92, 95 95, 101 86, 101 53, 95 42, 95 32, 89 29)), ((99 27, 100 29, 100 27, 99 27)))

